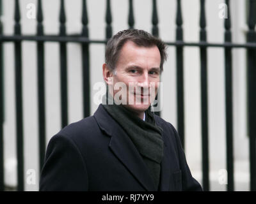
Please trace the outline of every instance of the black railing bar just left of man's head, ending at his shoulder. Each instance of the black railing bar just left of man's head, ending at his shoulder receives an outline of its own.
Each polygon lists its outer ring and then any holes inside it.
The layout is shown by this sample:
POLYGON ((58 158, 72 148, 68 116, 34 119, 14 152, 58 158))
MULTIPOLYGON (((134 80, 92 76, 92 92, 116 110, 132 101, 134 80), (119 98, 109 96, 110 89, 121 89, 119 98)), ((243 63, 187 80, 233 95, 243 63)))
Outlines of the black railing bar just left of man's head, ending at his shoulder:
MULTIPOLYGON (((88 38, 88 16, 86 8, 86 0, 83 0, 83 16, 82 16, 83 31, 82 36, 88 38)), ((82 63, 83 63, 83 110, 84 117, 90 116, 90 57, 89 44, 82 43, 82 63)))

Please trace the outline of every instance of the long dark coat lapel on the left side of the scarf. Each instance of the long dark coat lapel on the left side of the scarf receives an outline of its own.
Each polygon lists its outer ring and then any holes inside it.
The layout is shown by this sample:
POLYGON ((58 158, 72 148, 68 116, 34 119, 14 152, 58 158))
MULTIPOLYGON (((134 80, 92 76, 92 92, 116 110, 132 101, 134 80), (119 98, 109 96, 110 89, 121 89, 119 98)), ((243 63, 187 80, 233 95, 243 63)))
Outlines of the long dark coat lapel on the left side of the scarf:
POLYGON ((129 136, 117 122, 104 110, 102 105, 94 113, 100 129, 111 136, 109 149, 126 166, 132 175, 147 191, 156 191, 148 168, 129 136))

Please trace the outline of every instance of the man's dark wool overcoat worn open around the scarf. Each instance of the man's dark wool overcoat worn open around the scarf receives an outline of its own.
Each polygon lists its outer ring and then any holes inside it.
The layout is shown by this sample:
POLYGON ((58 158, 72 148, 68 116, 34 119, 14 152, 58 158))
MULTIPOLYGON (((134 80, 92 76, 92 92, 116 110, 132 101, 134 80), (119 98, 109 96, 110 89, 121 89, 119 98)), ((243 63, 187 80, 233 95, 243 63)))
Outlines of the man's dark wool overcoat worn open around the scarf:
MULTIPOLYGON (((202 191, 192 177, 179 135, 163 128, 164 156, 159 191, 202 191)), ((54 135, 40 175, 40 191, 154 191, 154 183, 129 136, 102 105, 91 117, 54 135)))

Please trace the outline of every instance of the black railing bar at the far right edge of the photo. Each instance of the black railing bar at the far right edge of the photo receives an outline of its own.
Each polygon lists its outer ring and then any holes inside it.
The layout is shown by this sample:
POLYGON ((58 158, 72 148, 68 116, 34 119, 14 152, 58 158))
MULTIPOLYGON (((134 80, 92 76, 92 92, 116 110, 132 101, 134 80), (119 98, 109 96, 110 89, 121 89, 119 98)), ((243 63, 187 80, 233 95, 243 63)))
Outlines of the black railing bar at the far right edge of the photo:
MULTIPOLYGON (((255 23, 256 15, 253 8, 255 8, 256 1, 250 0, 247 41, 256 41, 255 23)), ((250 188, 251 191, 256 191, 256 50, 248 48, 247 50, 247 77, 248 77, 248 132, 250 136, 250 188)))

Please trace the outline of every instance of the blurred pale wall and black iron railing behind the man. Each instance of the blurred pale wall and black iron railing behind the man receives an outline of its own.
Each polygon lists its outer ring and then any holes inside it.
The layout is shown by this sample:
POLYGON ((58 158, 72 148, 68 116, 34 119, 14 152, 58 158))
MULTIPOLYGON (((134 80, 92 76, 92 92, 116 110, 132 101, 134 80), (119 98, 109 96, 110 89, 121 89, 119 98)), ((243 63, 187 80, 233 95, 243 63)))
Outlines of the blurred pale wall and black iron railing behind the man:
POLYGON ((255 0, 0 7, 0 190, 38 191, 47 143, 95 112, 106 40, 131 27, 168 44, 159 114, 179 132, 193 177, 205 191, 256 190, 255 0))

